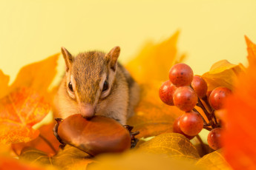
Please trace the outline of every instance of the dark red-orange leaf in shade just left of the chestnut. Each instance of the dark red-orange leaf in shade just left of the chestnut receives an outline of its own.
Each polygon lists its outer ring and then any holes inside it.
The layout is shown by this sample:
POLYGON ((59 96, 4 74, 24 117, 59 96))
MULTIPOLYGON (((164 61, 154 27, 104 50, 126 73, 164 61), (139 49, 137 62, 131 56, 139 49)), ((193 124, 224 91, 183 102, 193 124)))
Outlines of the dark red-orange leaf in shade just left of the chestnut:
POLYGON ((59 140, 53 135, 54 123, 45 124, 39 128, 40 135, 28 143, 13 143, 12 149, 17 155, 21 154, 24 147, 33 147, 47 154, 56 154, 59 149, 59 140), (50 145, 48 144, 50 143, 50 145))

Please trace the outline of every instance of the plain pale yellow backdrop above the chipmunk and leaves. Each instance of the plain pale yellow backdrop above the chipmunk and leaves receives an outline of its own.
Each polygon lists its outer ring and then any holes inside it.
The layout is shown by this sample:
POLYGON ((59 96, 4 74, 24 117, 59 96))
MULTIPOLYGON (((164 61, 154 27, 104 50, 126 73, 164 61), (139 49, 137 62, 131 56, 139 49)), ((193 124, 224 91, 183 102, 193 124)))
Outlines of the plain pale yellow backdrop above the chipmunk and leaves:
POLYGON ((177 30, 178 50, 196 74, 220 59, 246 64, 244 35, 256 42, 256 1, 0 0, 0 69, 13 81, 22 66, 62 46, 76 54, 119 45, 125 62, 146 41, 177 30))

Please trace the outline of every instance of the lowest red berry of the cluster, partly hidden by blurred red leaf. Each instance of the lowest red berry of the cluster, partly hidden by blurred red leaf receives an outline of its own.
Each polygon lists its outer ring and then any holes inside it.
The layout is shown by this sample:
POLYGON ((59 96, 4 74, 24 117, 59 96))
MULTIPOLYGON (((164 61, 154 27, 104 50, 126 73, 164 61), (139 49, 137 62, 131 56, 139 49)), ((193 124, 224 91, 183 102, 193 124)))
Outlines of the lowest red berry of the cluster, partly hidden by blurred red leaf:
POLYGON ((215 128, 212 129, 211 132, 209 132, 209 135, 207 137, 207 142, 211 149, 217 150, 222 147, 220 143, 221 135, 222 135, 222 128, 215 128))

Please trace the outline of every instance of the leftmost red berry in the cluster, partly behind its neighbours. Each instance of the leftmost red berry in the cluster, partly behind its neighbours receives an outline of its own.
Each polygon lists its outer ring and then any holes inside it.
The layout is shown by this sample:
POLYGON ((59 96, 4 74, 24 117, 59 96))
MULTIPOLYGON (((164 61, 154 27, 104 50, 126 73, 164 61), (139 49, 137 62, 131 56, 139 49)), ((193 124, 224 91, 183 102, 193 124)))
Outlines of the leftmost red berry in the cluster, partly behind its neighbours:
POLYGON ((171 84, 171 81, 165 81, 159 89, 159 96, 163 103, 174 106, 173 95, 177 86, 171 84))

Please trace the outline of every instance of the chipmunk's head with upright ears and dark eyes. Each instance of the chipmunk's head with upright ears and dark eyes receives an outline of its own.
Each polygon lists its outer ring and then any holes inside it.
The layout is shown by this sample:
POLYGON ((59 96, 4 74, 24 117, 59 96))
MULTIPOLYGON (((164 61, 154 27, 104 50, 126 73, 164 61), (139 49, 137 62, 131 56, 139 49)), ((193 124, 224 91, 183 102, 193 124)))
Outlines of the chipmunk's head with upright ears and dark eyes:
POLYGON ((100 100, 108 98, 117 69, 120 48, 114 47, 108 54, 84 52, 73 56, 62 47, 66 64, 66 89, 68 96, 84 118, 92 118, 100 100))

